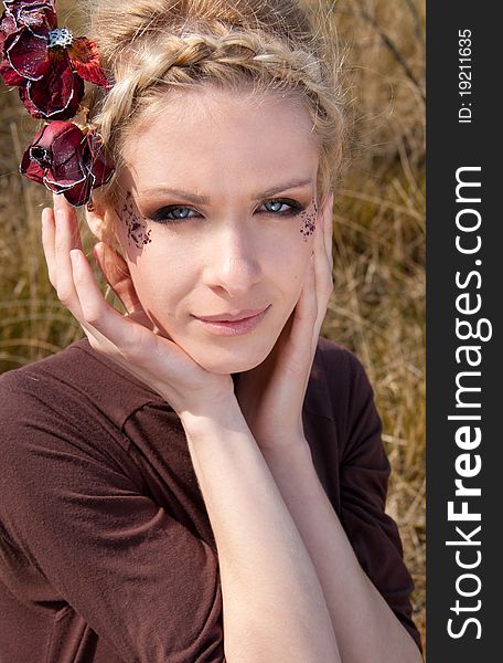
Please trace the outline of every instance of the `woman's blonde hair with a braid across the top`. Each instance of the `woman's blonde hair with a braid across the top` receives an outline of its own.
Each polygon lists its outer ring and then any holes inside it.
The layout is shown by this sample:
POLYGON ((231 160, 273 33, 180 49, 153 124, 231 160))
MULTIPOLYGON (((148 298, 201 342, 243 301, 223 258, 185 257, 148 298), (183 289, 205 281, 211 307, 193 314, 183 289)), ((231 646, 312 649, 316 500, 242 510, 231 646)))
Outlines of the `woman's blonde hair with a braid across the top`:
MULTIPOLYGON (((104 139, 116 173, 128 136, 165 93, 211 83, 278 91, 309 110, 320 144, 319 188, 339 176, 343 104, 334 43, 296 0, 87 0, 86 34, 98 42, 111 87, 87 99, 88 122, 104 139)), ((115 181, 95 191, 110 202, 115 181)))

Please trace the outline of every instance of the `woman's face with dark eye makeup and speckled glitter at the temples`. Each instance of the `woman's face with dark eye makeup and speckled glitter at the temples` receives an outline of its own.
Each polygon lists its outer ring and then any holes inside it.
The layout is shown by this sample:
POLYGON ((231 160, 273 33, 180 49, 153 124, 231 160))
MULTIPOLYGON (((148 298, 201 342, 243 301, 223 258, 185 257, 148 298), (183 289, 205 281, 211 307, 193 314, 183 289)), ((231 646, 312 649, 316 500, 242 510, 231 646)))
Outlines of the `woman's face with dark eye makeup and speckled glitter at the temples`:
POLYGON ((170 95, 126 144, 107 213, 146 313, 207 370, 260 364, 297 304, 318 211, 311 129, 291 99, 207 87, 170 95))

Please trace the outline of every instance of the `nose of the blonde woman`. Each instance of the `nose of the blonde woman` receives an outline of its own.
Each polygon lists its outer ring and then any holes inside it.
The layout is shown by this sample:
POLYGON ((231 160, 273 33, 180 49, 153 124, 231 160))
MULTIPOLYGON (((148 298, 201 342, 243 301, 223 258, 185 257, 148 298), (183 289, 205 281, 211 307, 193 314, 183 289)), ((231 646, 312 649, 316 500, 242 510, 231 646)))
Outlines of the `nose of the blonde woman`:
POLYGON ((207 250, 204 280, 208 287, 238 299, 260 281, 257 242, 238 222, 224 223, 207 250))

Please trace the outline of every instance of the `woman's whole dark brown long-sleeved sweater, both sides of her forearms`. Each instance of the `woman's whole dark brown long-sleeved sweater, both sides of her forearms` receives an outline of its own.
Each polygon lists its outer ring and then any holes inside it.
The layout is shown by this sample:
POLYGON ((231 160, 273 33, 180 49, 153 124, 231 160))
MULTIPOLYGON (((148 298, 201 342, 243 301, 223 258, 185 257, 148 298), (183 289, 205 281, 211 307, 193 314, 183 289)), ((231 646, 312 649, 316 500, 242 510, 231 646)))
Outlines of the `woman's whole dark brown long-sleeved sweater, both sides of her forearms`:
MULTIPOLYGON (((84 339, 0 377, 0 661, 222 662, 215 540, 167 402, 84 339)), ((303 424, 363 569, 420 646, 372 389, 323 338, 303 424)))

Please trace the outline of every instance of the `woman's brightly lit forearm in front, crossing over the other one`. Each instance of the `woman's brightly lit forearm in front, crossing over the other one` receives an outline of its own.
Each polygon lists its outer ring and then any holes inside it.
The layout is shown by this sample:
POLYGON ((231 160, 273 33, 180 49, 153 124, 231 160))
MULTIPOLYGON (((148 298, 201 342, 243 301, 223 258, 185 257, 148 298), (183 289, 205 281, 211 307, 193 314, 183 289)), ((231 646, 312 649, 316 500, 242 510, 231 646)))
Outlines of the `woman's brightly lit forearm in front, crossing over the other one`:
POLYGON ((227 661, 336 663, 317 572, 237 402, 182 423, 218 550, 227 661))

